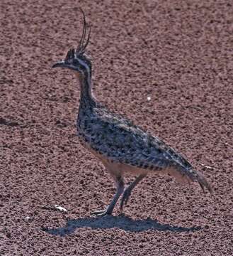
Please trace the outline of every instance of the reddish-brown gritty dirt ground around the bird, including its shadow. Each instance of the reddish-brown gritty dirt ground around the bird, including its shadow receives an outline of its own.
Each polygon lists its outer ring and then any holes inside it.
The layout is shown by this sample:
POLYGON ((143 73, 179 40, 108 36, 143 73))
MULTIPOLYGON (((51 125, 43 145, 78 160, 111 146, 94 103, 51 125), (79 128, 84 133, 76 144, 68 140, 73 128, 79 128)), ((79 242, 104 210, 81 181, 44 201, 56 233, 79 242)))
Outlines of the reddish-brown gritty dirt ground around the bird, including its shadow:
POLYGON ((232 17, 227 0, 1 0, 0 255, 233 255, 232 17), (152 176, 125 215, 90 217, 115 188, 76 137, 78 82, 51 68, 80 6, 98 100, 181 151, 213 198, 152 176))

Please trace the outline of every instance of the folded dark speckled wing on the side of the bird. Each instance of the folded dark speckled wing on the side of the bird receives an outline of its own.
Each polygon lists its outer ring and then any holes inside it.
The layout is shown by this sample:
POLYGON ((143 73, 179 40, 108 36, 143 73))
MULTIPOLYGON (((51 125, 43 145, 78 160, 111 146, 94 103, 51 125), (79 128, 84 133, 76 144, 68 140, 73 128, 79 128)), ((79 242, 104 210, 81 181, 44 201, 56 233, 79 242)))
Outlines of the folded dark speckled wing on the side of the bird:
POLYGON ((95 134, 93 145, 101 154, 110 158, 129 163, 134 160, 135 166, 142 168, 165 168, 171 164, 191 168, 191 164, 170 146, 119 115, 98 113, 96 121, 92 119, 89 129, 95 134))

